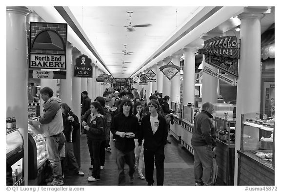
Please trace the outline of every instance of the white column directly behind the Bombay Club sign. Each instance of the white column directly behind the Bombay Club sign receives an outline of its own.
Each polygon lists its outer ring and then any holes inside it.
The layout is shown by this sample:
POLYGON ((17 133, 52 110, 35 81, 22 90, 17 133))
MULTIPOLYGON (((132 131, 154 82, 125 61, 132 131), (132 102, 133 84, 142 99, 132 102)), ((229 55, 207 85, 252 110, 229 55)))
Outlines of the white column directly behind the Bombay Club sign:
POLYGON ((81 78, 80 77, 74 77, 74 65, 76 64, 76 59, 79 58, 81 55, 81 52, 77 49, 72 51, 72 105, 71 110, 74 112, 74 114, 77 115, 80 121, 81 116, 81 78))

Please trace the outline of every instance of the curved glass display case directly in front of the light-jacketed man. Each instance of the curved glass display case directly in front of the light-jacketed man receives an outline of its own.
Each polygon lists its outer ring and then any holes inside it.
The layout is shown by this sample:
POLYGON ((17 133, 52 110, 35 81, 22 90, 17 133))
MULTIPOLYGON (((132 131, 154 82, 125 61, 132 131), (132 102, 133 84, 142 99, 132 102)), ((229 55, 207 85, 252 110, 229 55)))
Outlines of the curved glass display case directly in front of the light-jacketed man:
POLYGON ((34 179, 47 160, 46 142, 41 134, 28 125, 28 178, 34 179))

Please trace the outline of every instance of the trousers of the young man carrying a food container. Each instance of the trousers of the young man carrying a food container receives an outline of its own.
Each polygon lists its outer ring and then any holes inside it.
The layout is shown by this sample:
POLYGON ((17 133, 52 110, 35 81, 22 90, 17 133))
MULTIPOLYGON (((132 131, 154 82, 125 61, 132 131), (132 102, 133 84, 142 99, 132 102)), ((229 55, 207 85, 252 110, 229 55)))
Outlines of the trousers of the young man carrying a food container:
POLYGON ((129 166, 129 176, 133 177, 135 172, 135 153, 134 150, 123 152, 116 149, 116 164, 118 167, 118 185, 125 185, 125 163, 129 166))

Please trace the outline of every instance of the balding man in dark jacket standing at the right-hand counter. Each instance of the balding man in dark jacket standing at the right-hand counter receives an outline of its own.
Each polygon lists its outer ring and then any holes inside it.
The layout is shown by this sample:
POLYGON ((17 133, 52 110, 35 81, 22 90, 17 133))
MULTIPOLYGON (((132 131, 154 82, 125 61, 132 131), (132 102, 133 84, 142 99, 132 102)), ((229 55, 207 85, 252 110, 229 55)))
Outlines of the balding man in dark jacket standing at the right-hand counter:
POLYGON ((204 103, 194 121, 191 145, 194 151, 195 185, 214 185, 212 170, 216 132, 211 121, 213 111, 213 104, 204 103))

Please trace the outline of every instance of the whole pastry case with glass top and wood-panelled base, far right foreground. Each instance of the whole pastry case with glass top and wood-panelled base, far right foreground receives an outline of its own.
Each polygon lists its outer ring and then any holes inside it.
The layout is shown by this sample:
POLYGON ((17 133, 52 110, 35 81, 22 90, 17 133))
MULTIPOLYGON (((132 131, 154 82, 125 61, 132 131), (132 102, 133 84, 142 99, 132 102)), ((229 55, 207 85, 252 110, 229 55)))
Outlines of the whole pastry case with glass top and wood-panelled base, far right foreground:
POLYGON ((241 115, 238 185, 275 185, 274 119, 259 113, 241 115))

